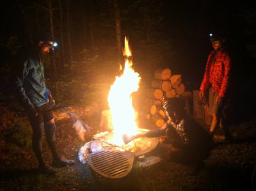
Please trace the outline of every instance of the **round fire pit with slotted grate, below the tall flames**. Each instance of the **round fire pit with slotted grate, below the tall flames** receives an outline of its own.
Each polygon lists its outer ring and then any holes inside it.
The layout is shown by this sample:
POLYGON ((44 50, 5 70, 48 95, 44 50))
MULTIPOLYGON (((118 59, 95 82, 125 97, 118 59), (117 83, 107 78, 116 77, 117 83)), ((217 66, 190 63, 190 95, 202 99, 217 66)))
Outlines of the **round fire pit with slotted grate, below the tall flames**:
MULTIPOLYGON (((140 129, 140 131, 145 130, 140 129)), ((134 162, 143 164, 143 161, 147 161, 144 155, 156 148, 159 142, 158 138, 141 137, 132 141, 131 144, 117 146, 108 142, 111 137, 113 133, 109 132, 93 135, 93 140, 86 142, 78 154, 81 164, 90 165, 93 171, 111 179, 122 178, 129 174, 134 162)), ((152 157, 150 156, 151 161, 152 157)), ((157 159, 157 162, 161 160, 157 159)), ((154 162, 150 165, 152 164, 154 162)))

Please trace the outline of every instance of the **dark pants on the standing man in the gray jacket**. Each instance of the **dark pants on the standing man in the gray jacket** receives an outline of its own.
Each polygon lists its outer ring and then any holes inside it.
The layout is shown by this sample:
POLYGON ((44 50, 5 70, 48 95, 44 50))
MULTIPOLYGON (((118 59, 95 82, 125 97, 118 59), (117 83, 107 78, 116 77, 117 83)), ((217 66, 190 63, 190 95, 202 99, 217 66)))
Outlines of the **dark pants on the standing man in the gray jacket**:
POLYGON ((44 132, 47 144, 52 151, 52 156, 58 158, 55 143, 56 125, 54 122, 49 123, 49 121, 54 119, 52 111, 47 111, 49 109, 51 109, 51 107, 49 103, 46 103, 45 105, 36 107, 36 111, 38 112, 37 116, 29 115, 29 121, 33 129, 32 146, 39 164, 44 164, 42 158, 42 138, 44 132))

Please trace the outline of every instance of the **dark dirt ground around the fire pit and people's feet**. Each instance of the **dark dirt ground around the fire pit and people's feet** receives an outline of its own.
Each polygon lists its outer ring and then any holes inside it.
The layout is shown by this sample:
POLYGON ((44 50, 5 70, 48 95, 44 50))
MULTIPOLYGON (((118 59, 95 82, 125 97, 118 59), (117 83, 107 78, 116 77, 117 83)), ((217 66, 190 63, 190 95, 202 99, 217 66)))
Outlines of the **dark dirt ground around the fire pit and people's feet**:
MULTIPOLYGON (((1 149, 0 190, 253 190, 253 169, 256 164, 256 119, 231 127, 236 142, 224 142, 222 130, 214 137, 216 148, 205 161, 206 167, 191 175, 193 167, 163 160, 147 168, 134 168, 124 178, 109 180, 95 174, 88 165, 82 165, 77 152, 92 135, 97 134, 100 116, 81 118, 92 126, 81 141, 72 128, 68 114, 54 112, 56 117, 56 142, 60 154, 73 159, 71 167, 56 169, 54 176, 39 174, 31 146, 20 149, 1 149)), ((208 128, 208 126, 205 126, 208 128)), ((43 140, 44 159, 51 164, 51 152, 43 140)))

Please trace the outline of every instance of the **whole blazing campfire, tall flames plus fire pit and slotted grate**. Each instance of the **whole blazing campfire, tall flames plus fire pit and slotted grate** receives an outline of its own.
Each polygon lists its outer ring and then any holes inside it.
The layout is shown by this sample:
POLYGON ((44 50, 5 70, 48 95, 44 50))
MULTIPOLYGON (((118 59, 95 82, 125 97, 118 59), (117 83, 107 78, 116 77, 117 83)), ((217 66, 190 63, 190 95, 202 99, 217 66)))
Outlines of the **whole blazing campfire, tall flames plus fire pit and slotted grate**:
POLYGON ((116 77, 109 90, 108 128, 110 132, 99 132, 93 140, 79 150, 78 158, 94 171, 107 178, 122 178, 131 171, 135 157, 156 148, 157 138, 142 137, 124 144, 122 135, 136 135, 147 129, 138 128, 138 113, 132 107, 132 93, 138 91, 140 75, 132 69, 132 54, 125 37, 125 65, 120 66, 122 75, 116 77), (102 166, 103 165, 103 166, 102 166))

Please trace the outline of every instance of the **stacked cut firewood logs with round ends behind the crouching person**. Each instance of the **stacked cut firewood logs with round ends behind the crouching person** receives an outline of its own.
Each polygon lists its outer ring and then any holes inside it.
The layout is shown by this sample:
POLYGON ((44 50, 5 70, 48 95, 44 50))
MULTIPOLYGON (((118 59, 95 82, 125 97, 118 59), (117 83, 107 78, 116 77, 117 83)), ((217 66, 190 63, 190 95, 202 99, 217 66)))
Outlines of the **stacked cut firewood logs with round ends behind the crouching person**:
POLYGON ((182 84, 181 75, 172 75, 169 68, 156 70, 154 77, 145 99, 145 107, 148 109, 146 118, 153 119, 156 126, 161 127, 167 119, 163 109, 164 97, 174 98, 184 95, 185 86, 182 84))

